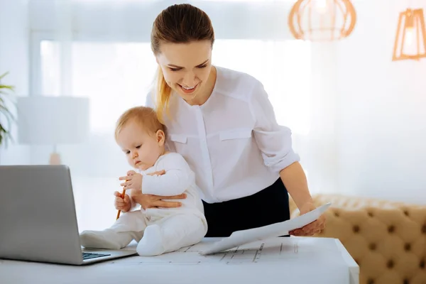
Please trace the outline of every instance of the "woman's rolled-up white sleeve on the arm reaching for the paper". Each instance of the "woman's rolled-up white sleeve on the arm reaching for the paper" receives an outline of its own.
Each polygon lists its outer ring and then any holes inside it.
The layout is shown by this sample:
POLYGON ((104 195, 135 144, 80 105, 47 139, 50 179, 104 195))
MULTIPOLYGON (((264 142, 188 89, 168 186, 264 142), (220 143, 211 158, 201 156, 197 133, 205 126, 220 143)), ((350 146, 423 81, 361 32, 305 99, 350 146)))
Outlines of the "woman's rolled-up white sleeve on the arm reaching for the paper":
POLYGON ((249 103, 255 121, 253 135, 265 165, 279 173, 300 161, 300 156, 293 150, 291 130, 276 121, 273 106, 261 82, 253 86, 249 103))

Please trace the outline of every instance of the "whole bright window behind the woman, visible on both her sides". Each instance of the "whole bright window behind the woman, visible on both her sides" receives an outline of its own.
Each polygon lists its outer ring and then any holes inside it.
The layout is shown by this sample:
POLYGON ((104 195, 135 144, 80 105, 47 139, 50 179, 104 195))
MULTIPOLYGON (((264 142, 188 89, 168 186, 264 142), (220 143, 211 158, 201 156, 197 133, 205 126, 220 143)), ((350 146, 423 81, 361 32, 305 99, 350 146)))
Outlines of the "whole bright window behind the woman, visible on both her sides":
MULTIPOLYGON (((89 97, 94 133, 114 129, 127 108, 145 103, 156 62, 149 43, 72 42, 61 61, 58 43, 40 43, 41 94, 89 97), (64 56, 65 57, 65 56, 64 56), (61 72, 69 64, 70 72, 61 72)), ((278 123, 307 133, 310 97, 310 44, 299 40, 217 40, 212 62, 247 72, 263 82, 278 123)))

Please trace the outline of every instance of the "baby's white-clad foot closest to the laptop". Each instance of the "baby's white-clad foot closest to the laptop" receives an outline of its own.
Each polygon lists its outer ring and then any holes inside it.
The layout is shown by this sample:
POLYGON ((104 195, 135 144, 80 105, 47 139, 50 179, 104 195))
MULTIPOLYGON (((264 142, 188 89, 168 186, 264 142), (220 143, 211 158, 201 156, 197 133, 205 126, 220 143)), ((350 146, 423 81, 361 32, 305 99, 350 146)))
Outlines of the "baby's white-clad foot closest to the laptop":
POLYGON ((82 231, 80 241, 87 249, 121 249, 132 240, 126 232, 117 233, 110 229, 104 231, 82 231))

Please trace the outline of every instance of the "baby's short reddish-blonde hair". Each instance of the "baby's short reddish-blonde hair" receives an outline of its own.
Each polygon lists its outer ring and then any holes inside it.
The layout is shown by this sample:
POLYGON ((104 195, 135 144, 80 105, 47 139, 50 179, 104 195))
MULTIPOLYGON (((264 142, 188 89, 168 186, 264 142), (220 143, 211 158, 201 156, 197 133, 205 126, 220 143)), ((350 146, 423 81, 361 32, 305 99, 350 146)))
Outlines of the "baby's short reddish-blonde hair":
POLYGON ((157 114, 151 107, 132 107, 124 111, 116 122, 115 139, 119 136, 121 129, 130 121, 135 121, 148 133, 157 133, 158 130, 165 132, 165 126, 158 121, 157 114))

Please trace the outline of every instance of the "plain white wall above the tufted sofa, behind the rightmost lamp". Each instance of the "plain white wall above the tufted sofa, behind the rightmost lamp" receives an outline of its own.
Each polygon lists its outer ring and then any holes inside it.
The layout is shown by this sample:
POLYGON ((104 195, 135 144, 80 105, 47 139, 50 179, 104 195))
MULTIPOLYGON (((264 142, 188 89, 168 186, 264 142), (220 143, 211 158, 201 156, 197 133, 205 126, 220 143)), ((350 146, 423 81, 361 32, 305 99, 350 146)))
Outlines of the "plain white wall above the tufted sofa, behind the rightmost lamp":
POLYGON ((358 22, 337 58, 341 190, 426 204, 426 58, 391 61, 408 2, 354 3, 358 22))

